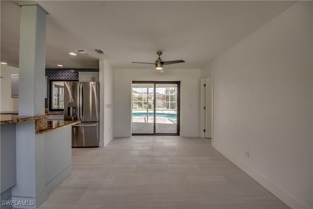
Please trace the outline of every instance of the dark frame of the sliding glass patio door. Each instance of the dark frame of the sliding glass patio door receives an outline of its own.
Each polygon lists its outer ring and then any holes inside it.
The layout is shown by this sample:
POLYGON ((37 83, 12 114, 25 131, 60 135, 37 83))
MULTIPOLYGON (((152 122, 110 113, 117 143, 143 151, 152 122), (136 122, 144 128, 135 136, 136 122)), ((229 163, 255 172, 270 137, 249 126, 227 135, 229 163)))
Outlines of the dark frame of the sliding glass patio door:
MULTIPOLYGON (((132 81, 132 96, 131 96, 131 118, 132 118, 132 125, 131 125, 131 131, 132 136, 147 136, 147 135, 159 135, 159 136, 168 136, 168 135, 174 135, 179 136, 180 134, 180 81, 132 81), (174 84, 177 85, 177 132, 176 133, 156 133, 156 84, 174 84), (154 110, 153 110, 153 134, 134 134, 133 133, 133 84, 153 84, 154 86, 154 110)), ((149 105, 149 104, 148 104, 149 105)))

